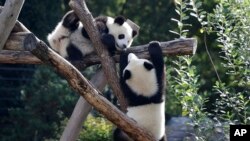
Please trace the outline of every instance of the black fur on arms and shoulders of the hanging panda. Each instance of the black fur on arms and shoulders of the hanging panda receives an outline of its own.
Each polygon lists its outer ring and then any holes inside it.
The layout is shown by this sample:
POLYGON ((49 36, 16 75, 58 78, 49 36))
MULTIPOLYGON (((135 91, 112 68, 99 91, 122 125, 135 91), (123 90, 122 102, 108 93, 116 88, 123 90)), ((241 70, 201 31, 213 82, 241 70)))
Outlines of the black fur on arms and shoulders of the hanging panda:
MULTIPOLYGON (((153 66, 146 65, 148 69, 154 67, 156 70, 157 83, 159 89, 157 93, 151 97, 144 97, 141 95, 135 94, 129 86, 125 83, 126 78, 122 75, 123 70, 128 65, 128 53, 124 52, 120 56, 120 84, 123 90, 125 97, 128 99, 128 106, 139 106, 150 103, 161 103, 164 100, 164 61, 159 43, 152 42, 148 47, 151 61, 153 66)), ((152 69, 152 68, 151 68, 152 69)), ((143 83, 143 82, 142 82, 143 83)))

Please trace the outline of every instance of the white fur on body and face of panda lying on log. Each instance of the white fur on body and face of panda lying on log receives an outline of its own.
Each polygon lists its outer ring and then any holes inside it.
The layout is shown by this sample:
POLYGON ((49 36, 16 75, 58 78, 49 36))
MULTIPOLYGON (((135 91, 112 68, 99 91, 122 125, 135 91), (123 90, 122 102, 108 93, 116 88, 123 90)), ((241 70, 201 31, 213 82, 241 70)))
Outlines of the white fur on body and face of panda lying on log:
MULTIPOLYGON (((116 48, 118 50, 124 49, 123 45, 127 48, 131 46, 133 42, 133 30, 128 23, 124 22, 124 24, 120 26, 114 24, 113 18, 107 17, 106 25, 109 29, 109 34, 113 35, 115 38, 116 48), (118 35, 120 34, 124 34, 125 38, 118 39, 118 35)), ((83 25, 80 23, 78 29, 71 33, 71 31, 62 25, 62 21, 59 22, 55 30, 47 37, 50 46, 64 58, 68 57, 67 47, 70 43, 74 44, 81 51, 83 56, 92 53, 94 51, 93 45, 89 39, 82 36, 82 27, 83 25)))

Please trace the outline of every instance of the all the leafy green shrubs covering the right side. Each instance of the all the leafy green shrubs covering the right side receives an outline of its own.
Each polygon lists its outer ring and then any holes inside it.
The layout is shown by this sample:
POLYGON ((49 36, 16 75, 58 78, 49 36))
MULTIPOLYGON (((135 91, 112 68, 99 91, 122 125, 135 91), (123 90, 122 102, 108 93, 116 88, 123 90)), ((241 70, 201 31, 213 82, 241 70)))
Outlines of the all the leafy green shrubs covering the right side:
MULTIPOLYGON (((188 34, 188 20, 195 17, 201 23, 201 33, 204 34, 205 47, 211 65, 217 74, 218 81, 214 83, 213 112, 208 113, 204 104, 208 101, 207 94, 198 94, 199 85, 196 69, 189 57, 179 57, 174 61, 175 80, 170 80, 177 99, 182 104, 182 114, 193 119, 198 140, 209 140, 215 129, 220 128, 226 135, 217 140, 227 140, 229 124, 250 123, 250 4, 243 1, 222 0, 213 13, 206 15, 201 9, 202 3, 196 0, 179 0, 176 12, 179 19, 172 19, 178 25, 178 31, 171 31, 180 38, 188 34), (221 77, 215 67, 213 57, 208 51, 206 34, 216 33, 217 45, 222 58, 223 73, 221 77), (221 79, 223 78, 223 79, 221 79), (212 117, 212 120, 209 118, 212 117)), ((210 99, 213 101, 213 99, 210 99)))

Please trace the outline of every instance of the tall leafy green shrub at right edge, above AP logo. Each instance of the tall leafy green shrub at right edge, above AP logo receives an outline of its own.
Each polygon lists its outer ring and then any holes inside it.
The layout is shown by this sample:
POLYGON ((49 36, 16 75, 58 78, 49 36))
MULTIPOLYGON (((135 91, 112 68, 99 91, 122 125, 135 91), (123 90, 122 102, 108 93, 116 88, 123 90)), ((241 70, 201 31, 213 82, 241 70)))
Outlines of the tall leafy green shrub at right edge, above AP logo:
POLYGON ((218 36, 222 66, 229 81, 218 81, 215 113, 232 124, 250 123, 250 3, 222 0, 210 14, 209 33, 218 36))

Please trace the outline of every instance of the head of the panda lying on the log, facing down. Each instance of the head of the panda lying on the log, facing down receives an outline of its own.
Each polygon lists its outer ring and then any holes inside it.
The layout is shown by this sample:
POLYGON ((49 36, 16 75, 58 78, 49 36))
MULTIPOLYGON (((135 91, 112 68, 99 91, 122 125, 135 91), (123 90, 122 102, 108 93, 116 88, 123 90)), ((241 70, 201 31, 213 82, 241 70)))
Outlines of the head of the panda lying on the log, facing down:
POLYGON ((122 16, 118 16, 115 19, 108 17, 107 27, 109 34, 111 34, 115 39, 115 46, 117 50, 129 48, 133 39, 139 33, 139 26, 122 16))

